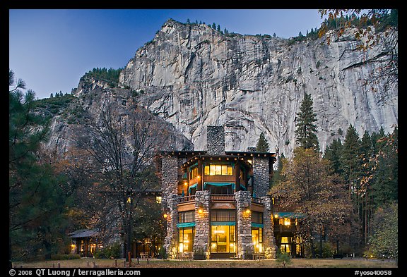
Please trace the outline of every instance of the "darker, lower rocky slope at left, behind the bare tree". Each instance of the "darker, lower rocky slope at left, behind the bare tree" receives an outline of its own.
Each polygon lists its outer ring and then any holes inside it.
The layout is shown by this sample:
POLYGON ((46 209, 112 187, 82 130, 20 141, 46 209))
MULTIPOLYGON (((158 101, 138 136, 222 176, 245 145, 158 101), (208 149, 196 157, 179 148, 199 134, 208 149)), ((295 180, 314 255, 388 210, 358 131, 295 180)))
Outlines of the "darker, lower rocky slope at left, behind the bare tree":
MULTIPOLYGON (((85 116, 92 116, 100 123, 100 114, 107 110, 107 106, 114 107, 116 116, 112 116, 112 121, 119 118, 121 121, 129 122, 128 114, 136 112, 141 121, 151 122, 151 126, 158 129, 153 134, 159 138, 158 140, 165 140, 160 146, 161 150, 194 148, 187 137, 179 133, 171 123, 138 105, 129 89, 110 87, 106 82, 93 78, 88 80, 81 78, 75 96, 75 100, 63 112, 54 116, 50 126, 50 137, 45 144, 47 149, 55 149, 61 156, 67 154, 71 147, 76 147, 75 137, 78 133, 89 133, 82 119, 85 116)), ((129 140, 130 138, 126 136, 126 141, 131 144, 129 140)))

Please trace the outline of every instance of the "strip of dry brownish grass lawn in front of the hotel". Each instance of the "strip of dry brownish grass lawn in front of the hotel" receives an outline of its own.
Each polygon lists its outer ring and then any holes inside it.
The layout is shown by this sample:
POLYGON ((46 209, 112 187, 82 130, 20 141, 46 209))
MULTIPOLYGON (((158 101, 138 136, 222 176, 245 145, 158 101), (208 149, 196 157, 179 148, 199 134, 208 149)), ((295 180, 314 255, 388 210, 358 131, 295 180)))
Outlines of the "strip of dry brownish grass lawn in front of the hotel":
MULTIPOLYGON (((13 262, 13 267, 23 268, 112 268, 124 267, 124 259, 72 259, 61 261, 33 261, 13 262)), ((150 259, 133 259, 132 267, 135 268, 281 268, 275 259, 253 260, 204 260, 204 261, 179 261, 150 259)), ((397 268, 394 261, 378 259, 291 259, 288 268, 397 268)))

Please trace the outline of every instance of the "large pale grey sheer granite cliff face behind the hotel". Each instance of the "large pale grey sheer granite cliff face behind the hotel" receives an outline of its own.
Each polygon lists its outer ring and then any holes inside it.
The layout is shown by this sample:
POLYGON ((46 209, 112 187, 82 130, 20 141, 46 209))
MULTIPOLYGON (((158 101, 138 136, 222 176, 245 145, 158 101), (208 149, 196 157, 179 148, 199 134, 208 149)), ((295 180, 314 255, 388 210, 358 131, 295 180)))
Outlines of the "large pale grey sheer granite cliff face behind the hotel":
POLYGON ((304 93, 311 94, 324 150, 334 138, 343 140, 349 124, 362 135, 380 127, 391 132, 398 123, 397 84, 372 80, 387 59, 382 46, 357 50, 352 34, 333 37, 331 44, 325 38, 290 44, 167 20, 136 51, 119 85, 143 92, 143 106, 172 123, 196 150, 206 150, 206 126, 223 125, 226 151, 256 146, 263 132, 270 151, 285 156, 295 147, 304 93))

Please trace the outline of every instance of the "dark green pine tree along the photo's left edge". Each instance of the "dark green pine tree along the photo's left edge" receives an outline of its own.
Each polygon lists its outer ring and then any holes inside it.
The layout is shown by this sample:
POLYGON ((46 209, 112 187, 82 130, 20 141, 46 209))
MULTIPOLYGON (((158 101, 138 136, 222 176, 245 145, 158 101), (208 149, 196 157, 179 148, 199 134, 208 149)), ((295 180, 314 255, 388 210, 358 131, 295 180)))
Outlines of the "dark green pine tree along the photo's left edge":
MULTIPOLYGON (((15 85, 9 71, 9 85, 15 85)), ((50 258, 61 241, 66 197, 60 176, 40 161, 49 118, 35 113, 35 92, 18 80, 8 104, 8 234, 9 260, 45 255, 50 258)))

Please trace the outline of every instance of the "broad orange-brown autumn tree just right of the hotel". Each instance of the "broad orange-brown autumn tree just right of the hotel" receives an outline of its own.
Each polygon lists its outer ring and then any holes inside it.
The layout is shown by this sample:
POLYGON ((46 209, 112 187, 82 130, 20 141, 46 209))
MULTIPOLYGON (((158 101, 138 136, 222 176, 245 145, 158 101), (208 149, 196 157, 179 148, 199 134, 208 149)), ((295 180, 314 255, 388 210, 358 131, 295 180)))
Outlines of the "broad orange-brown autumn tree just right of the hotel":
POLYGON ((322 243, 322 235, 329 234, 338 242, 338 234, 345 230, 341 226, 348 224, 352 207, 346 190, 338 176, 331 174, 329 162, 314 149, 295 148, 294 156, 284 162, 281 176, 281 181, 271 188, 271 195, 278 207, 294 209, 304 216, 297 235, 309 244, 315 257, 315 239, 322 243))

